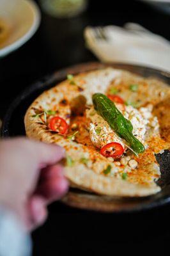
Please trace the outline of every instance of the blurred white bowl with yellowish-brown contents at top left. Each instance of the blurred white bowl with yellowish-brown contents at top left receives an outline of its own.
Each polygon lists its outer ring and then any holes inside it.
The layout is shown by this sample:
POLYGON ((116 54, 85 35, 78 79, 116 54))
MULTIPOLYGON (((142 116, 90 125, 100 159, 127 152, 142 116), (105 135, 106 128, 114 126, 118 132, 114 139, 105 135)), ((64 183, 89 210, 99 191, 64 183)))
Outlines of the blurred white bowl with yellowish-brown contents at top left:
POLYGON ((26 43, 38 29, 40 17, 40 10, 32 0, 0 0, 0 20, 8 28, 8 35, 0 44, 0 57, 26 43))

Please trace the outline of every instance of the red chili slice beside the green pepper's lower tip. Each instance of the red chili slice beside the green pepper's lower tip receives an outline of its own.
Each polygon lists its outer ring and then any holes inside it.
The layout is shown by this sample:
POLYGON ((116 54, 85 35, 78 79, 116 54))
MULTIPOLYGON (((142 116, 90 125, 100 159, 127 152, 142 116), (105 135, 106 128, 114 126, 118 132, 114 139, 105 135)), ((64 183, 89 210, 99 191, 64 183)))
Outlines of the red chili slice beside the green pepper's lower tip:
POLYGON ((100 154, 105 157, 120 157, 124 152, 120 143, 111 142, 100 149, 100 154))

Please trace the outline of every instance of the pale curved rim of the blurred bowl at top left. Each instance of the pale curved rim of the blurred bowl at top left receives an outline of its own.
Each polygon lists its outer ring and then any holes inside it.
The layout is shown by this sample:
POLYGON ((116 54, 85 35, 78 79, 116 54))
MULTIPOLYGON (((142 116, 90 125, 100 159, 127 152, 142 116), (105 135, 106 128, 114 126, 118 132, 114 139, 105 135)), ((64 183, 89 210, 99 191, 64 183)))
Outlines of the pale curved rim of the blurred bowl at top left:
POLYGON ((7 54, 9 54, 12 51, 15 51, 19 47, 21 47, 23 44, 25 44, 36 32, 38 27, 40 26, 40 20, 41 20, 41 13, 40 9, 38 8, 38 5, 33 0, 22 0, 24 1, 28 6, 31 7, 34 15, 34 20, 32 26, 29 28, 29 30, 26 32, 25 35, 21 36, 18 40, 13 42, 10 45, 7 45, 6 47, 0 49, 0 57, 3 57, 7 54))

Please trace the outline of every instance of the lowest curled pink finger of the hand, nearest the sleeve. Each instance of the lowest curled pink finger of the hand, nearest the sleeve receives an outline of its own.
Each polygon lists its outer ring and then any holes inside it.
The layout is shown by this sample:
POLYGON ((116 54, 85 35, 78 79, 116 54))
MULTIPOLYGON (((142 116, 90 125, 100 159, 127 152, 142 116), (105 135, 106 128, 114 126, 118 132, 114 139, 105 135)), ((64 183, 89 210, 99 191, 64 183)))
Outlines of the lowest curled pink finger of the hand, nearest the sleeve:
POLYGON ((45 200, 41 196, 33 196, 29 200, 27 212, 29 214, 29 221, 27 225, 29 230, 42 225, 42 223, 47 219, 47 208, 45 200))

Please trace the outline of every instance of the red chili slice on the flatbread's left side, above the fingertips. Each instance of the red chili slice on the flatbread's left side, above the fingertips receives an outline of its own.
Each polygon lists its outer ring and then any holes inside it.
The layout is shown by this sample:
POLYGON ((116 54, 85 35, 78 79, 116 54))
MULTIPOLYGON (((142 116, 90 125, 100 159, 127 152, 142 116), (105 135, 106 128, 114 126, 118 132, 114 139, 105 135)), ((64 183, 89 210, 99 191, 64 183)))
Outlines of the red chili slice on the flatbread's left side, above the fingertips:
POLYGON ((65 119, 59 116, 50 119, 49 127, 52 131, 59 132, 62 135, 68 132, 68 124, 66 124, 65 119))

